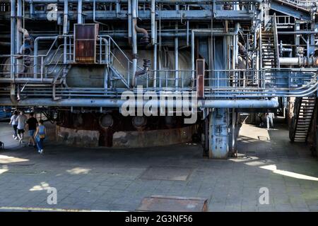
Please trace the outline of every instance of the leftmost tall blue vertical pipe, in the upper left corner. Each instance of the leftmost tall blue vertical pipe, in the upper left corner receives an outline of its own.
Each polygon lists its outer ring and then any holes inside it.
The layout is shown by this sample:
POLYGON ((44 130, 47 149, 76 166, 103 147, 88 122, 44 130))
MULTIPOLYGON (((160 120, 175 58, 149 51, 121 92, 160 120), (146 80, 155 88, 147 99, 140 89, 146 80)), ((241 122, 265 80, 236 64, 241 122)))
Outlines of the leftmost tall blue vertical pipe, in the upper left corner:
POLYGON ((14 79, 15 69, 16 69, 16 0, 11 0, 11 57, 10 57, 10 66, 11 66, 11 79, 14 79))

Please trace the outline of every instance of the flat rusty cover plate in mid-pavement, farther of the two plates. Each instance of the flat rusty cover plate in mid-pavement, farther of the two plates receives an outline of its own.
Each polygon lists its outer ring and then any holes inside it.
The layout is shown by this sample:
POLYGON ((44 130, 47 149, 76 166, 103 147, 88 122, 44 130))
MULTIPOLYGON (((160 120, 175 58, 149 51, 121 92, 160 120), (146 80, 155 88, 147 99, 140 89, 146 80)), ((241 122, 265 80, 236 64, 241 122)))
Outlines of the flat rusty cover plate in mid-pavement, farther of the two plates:
POLYGON ((141 175, 141 179, 164 179, 171 181, 186 181, 192 169, 187 167, 149 167, 141 175))

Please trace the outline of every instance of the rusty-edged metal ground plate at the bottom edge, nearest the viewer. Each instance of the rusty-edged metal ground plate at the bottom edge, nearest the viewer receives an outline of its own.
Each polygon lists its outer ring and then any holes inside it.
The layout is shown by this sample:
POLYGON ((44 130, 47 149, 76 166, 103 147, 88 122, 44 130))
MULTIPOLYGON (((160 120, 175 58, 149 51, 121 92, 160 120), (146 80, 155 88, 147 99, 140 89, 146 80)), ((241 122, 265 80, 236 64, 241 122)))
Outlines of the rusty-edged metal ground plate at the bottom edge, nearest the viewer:
POLYGON ((137 211, 206 212, 208 200, 175 196, 151 196, 143 198, 137 211))

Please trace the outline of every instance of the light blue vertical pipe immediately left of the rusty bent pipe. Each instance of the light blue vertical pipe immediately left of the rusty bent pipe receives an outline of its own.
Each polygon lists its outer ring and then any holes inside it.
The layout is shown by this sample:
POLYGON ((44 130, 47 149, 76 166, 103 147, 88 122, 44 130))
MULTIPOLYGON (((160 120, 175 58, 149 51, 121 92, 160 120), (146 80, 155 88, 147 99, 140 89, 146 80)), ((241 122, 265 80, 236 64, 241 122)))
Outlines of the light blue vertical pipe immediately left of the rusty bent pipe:
POLYGON ((131 13, 132 13, 132 44, 133 44, 133 54, 132 54, 132 62, 133 62, 133 70, 132 70, 132 86, 135 86, 135 74, 137 71, 137 32, 136 32, 136 23, 137 23, 137 0, 132 0, 131 2, 131 13))

